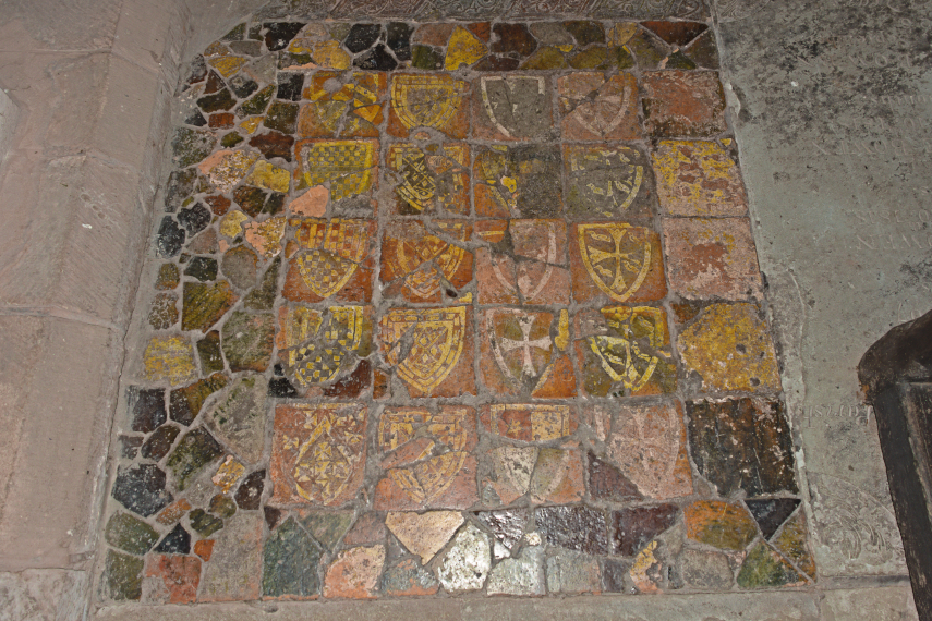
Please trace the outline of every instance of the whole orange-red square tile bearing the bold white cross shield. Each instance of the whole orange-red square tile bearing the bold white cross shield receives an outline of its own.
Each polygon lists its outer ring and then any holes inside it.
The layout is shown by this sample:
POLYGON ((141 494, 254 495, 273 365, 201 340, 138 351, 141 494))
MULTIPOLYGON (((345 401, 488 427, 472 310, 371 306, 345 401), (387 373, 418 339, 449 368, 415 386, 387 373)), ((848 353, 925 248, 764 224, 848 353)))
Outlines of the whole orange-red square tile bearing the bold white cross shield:
POLYGON ((576 394, 567 310, 555 316, 486 308, 480 334, 480 368, 487 389, 498 394, 549 399, 576 394))

